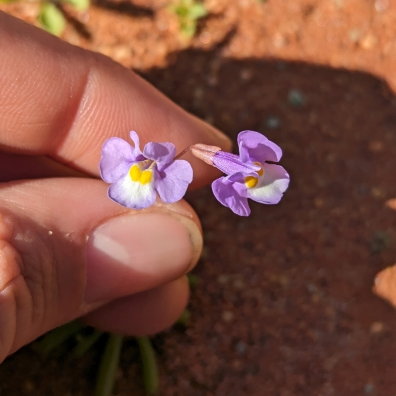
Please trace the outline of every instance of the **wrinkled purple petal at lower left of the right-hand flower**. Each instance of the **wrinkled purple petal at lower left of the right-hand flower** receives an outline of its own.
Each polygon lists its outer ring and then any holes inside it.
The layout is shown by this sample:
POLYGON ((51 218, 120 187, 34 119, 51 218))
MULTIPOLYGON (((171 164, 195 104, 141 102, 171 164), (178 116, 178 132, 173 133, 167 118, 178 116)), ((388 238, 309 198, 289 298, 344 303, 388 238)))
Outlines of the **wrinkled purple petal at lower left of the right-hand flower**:
POLYGON ((246 198, 246 187, 243 183, 234 183, 228 177, 221 177, 212 183, 212 191, 216 199, 240 216, 250 214, 246 198))

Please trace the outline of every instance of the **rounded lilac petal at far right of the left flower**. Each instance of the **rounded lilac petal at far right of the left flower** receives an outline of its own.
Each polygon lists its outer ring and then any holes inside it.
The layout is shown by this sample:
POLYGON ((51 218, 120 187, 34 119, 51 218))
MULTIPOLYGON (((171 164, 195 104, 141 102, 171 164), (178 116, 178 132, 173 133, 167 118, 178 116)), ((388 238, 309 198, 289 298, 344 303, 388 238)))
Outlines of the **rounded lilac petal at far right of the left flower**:
POLYGON ((164 202, 173 203, 184 197, 192 181, 193 168, 190 163, 177 159, 157 172, 155 190, 164 202))

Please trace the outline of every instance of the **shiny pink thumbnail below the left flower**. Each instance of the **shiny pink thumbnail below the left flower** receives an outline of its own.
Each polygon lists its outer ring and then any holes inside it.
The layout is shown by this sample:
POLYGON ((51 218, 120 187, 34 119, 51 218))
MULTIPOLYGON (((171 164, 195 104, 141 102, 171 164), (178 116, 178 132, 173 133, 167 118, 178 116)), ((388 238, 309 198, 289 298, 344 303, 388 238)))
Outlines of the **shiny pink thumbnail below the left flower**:
POLYGON ((177 279, 198 260, 201 241, 197 224, 177 213, 107 220, 88 239, 85 302, 132 295, 177 279))

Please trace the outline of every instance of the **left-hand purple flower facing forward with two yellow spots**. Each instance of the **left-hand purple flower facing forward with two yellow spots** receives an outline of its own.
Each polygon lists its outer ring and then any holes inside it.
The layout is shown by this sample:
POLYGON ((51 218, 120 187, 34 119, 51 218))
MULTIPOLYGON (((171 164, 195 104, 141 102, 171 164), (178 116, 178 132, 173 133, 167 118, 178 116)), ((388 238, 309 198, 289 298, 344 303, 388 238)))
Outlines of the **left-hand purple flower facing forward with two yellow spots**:
POLYGON ((174 159, 176 147, 150 142, 142 152, 136 132, 131 132, 131 139, 134 147, 120 138, 104 142, 99 170, 101 178, 111 183, 108 197, 133 209, 152 205, 157 193, 166 203, 183 198, 193 169, 189 162, 174 159))

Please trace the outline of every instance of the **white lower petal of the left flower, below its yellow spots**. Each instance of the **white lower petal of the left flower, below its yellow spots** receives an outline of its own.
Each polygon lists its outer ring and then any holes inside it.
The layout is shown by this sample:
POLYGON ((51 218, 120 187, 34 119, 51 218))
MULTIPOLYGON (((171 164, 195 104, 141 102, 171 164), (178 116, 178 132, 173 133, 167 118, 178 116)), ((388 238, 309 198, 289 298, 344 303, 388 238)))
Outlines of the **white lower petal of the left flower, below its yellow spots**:
POLYGON ((157 195, 153 186, 153 182, 147 184, 133 182, 129 172, 127 172, 126 175, 108 188, 107 195, 123 206, 132 209, 144 209, 155 202, 157 195))

